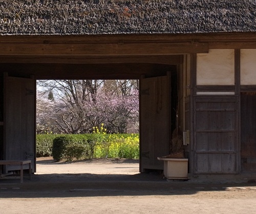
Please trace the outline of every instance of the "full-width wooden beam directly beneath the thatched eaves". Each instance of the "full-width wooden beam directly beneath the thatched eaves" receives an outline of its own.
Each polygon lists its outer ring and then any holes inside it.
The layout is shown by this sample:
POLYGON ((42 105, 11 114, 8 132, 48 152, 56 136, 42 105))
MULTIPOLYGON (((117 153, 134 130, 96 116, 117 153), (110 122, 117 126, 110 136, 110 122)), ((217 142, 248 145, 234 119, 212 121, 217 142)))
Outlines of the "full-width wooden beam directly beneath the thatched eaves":
POLYGON ((114 43, 114 42, 210 42, 256 41, 254 32, 189 34, 102 34, 102 35, 22 35, 0 36, 0 43, 114 43))

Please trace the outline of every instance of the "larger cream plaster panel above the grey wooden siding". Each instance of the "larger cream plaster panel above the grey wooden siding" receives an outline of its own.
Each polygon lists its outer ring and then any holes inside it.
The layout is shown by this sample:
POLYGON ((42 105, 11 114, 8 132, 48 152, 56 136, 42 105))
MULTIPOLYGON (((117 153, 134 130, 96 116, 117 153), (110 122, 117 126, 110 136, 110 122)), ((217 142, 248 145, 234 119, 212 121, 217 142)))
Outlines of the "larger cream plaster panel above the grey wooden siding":
POLYGON ((234 50, 210 49, 197 54, 198 85, 234 85, 234 50))

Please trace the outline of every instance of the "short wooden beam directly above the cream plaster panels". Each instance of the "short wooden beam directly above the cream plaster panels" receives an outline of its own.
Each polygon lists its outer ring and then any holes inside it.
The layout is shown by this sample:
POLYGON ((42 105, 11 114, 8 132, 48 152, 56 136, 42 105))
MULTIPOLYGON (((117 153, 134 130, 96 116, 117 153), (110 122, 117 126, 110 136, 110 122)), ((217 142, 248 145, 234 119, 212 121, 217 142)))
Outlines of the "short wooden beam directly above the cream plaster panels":
POLYGON ((209 49, 256 49, 256 41, 209 42, 209 49))

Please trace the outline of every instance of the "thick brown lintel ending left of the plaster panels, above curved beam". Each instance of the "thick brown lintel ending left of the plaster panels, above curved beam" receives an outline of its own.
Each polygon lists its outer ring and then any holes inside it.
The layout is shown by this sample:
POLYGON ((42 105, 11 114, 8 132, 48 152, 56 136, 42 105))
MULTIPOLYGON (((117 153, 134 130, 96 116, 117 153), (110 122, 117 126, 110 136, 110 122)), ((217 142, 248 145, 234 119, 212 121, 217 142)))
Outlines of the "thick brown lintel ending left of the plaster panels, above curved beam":
POLYGON ((91 44, 2 43, 0 55, 129 56, 207 53, 207 42, 148 42, 91 44))

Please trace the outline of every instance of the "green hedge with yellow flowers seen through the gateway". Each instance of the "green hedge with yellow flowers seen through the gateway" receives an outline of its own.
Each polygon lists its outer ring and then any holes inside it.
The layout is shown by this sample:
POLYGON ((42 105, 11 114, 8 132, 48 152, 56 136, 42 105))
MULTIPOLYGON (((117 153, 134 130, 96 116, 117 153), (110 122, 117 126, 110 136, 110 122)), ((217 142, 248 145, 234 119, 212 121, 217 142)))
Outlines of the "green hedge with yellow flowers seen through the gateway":
MULTIPOLYGON (((84 134, 36 136, 36 157, 53 156, 53 142, 68 138, 65 149, 58 159, 73 160, 85 158, 139 158, 138 134, 84 134), (55 140, 56 141, 56 140, 55 140)), ((60 149, 61 150, 61 149, 60 149)), ((58 151, 58 149, 55 149, 58 151)))

